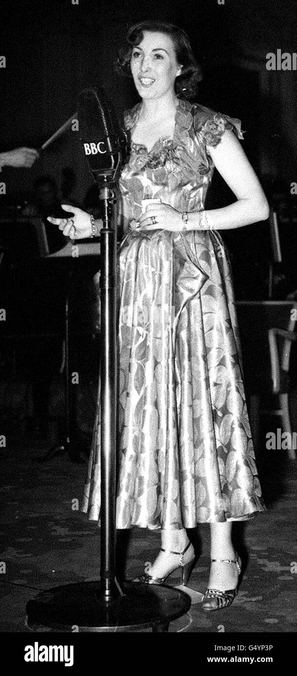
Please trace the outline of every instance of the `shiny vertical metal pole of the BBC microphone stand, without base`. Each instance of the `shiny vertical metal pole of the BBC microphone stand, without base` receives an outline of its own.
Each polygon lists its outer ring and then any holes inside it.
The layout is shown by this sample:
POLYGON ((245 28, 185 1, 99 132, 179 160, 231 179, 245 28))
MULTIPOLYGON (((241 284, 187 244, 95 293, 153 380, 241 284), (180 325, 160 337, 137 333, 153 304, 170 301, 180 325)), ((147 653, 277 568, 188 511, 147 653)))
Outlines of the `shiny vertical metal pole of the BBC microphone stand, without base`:
POLYGON ((104 177, 99 189, 101 229, 101 594, 121 594, 115 577, 115 462, 117 421, 117 228, 115 193, 104 177), (111 222, 113 220, 113 222, 111 222))

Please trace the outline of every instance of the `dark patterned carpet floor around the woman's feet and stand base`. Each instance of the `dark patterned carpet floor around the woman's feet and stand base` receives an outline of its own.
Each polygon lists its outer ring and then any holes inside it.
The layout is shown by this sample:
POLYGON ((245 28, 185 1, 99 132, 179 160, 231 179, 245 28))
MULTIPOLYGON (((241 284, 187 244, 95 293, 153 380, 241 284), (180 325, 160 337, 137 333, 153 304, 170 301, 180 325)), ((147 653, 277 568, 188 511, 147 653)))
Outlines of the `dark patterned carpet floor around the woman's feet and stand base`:
MULTIPOLYGON (((1 449, 0 631, 25 632, 26 603, 64 583, 98 579, 100 531, 76 510, 86 464, 68 456, 36 464, 45 445, 7 439, 1 449)), ((171 623, 173 632, 294 632, 296 622, 296 462, 284 452, 258 458, 267 512, 236 524, 244 575, 231 608, 207 614, 200 604, 171 623), (294 563, 295 562, 295 563, 294 563)), ((195 533, 192 533, 195 535, 195 533)), ((207 587, 209 527, 196 535, 199 554, 190 586, 207 587)), ((153 560, 159 535, 145 529, 119 533, 119 573, 133 578, 153 560)), ((178 584, 172 577, 170 583, 178 584)))

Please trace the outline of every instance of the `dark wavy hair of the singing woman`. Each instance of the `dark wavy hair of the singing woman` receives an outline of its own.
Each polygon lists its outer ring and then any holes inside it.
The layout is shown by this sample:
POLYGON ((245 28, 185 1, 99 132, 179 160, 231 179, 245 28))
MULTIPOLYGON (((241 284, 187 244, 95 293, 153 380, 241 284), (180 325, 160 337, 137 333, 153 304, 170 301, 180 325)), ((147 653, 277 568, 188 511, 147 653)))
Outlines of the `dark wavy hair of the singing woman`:
POLYGON ((202 80, 202 71, 196 62, 186 31, 174 24, 163 21, 142 21, 131 26, 127 34, 129 49, 128 51, 122 50, 115 62, 117 72, 132 76, 130 68, 132 49, 138 47, 142 41, 144 30, 165 33, 171 37, 176 60, 180 66, 183 66, 181 74, 175 78, 175 94, 180 98, 194 99, 198 92, 198 82, 202 80))

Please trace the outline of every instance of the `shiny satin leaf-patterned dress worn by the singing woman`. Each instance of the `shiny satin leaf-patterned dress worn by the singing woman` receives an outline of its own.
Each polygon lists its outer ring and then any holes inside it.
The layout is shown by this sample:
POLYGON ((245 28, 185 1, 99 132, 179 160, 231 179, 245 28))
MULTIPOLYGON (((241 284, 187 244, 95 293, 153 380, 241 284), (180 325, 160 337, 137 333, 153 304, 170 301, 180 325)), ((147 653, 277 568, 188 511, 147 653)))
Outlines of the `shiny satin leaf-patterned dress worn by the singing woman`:
MULTIPOLYGON (((139 110, 126 114, 126 130, 139 110)), ((242 139, 240 120, 180 100, 173 139, 149 152, 131 143, 121 172, 119 529, 193 528, 265 510, 223 241, 215 231, 135 229, 143 199, 180 212, 204 209, 214 169, 207 147, 226 128, 242 139)), ((91 519, 100 516, 99 401, 82 506, 91 519)))

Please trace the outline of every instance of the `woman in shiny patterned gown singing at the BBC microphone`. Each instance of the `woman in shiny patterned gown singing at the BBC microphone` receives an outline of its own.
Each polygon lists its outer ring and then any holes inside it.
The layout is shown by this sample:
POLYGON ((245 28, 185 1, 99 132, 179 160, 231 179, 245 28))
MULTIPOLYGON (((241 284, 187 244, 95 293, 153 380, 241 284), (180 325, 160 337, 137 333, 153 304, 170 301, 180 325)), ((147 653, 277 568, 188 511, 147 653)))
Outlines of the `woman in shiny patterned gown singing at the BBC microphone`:
MULTIPOLYGON (((190 103, 199 79, 184 31, 161 22, 130 29, 121 62, 141 97, 125 116, 118 247, 118 481, 116 526, 161 529, 150 574, 161 584, 194 549, 186 529, 211 527, 205 610, 237 592, 232 521, 265 510, 246 410, 232 272, 217 232, 267 218, 267 200, 238 141, 240 120, 190 103), (234 192, 205 211, 214 167, 234 192)), ((65 206, 68 208, 69 206, 65 206)), ((102 222, 71 206, 52 219, 88 237, 102 222), (91 221, 92 220, 92 224, 91 221)), ((100 407, 83 511, 100 514, 100 407)))

